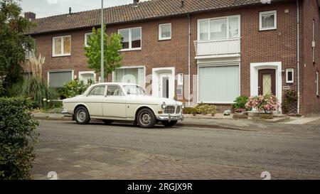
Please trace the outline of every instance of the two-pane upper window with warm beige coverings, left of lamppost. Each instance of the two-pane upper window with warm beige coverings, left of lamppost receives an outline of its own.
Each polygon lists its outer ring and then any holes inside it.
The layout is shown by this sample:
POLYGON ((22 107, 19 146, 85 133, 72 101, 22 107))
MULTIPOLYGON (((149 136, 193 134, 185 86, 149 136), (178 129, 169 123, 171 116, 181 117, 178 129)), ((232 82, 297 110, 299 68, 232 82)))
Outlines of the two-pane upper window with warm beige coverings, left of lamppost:
POLYGON ((71 36, 53 38, 53 57, 68 56, 71 54, 71 36))

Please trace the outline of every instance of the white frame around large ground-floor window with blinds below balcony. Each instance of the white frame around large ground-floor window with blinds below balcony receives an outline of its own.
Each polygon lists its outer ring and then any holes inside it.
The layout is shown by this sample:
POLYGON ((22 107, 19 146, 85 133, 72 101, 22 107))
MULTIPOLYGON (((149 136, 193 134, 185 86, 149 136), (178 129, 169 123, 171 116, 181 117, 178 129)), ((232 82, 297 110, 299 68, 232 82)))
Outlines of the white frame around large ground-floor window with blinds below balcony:
MULTIPOLYGON (((198 65, 197 72, 199 68, 202 67, 222 67, 222 66, 239 66, 239 96, 241 95, 241 63, 220 63, 220 64, 210 64, 210 65, 198 65)), ((199 101, 199 75, 197 75, 197 103, 208 103, 208 104, 235 104, 235 102, 201 102, 199 101)))

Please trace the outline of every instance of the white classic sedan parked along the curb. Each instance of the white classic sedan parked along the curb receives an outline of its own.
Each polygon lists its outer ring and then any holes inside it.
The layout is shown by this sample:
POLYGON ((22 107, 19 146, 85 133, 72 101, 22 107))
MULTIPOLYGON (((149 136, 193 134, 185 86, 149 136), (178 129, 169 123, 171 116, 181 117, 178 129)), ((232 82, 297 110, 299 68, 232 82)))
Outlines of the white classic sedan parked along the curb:
POLYGON ((73 116, 78 124, 101 119, 106 124, 132 121, 143 128, 157 122, 174 126, 183 120, 183 104, 173 99, 146 95, 139 85, 128 83, 98 83, 77 97, 63 99, 63 114, 73 116))

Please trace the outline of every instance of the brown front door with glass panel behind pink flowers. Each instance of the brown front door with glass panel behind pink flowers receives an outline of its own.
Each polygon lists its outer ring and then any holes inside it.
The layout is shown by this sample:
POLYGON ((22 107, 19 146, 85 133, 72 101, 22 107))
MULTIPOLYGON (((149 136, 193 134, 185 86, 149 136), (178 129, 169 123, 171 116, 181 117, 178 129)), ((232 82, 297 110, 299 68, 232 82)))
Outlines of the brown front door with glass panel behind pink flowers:
POLYGON ((265 69, 259 70, 258 75, 258 93, 259 95, 277 95, 275 80, 275 70, 265 69))

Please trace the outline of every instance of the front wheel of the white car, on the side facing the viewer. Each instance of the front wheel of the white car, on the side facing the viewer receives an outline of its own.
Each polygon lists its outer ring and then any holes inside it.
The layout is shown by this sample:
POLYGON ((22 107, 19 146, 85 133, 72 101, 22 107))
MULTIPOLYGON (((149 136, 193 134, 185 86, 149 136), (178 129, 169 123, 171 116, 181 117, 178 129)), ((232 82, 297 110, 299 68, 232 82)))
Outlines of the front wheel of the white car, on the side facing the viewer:
POLYGON ((151 109, 141 109, 137 115, 137 123, 142 128, 152 128, 156 124, 156 117, 151 109))

